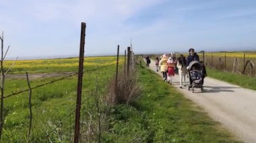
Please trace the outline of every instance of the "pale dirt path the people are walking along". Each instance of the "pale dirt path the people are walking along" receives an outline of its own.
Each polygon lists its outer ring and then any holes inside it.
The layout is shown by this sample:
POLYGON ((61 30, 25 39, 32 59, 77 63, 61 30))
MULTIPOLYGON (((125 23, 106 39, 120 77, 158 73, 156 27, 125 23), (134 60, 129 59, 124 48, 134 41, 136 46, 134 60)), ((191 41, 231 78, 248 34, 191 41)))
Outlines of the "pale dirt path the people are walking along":
MULTIPOLYGON (((150 68, 156 72, 153 60, 150 68)), ((156 73, 161 75, 160 72, 156 73)), ((186 82, 189 85, 189 79, 186 82)), ((243 142, 256 142, 256 91, 206 77, 203 93, 200 89, 192 93, 187 87, 179 88, 179 75, 172 79, 172 86, 203 107, 210 117, 223 124, 243 142)))

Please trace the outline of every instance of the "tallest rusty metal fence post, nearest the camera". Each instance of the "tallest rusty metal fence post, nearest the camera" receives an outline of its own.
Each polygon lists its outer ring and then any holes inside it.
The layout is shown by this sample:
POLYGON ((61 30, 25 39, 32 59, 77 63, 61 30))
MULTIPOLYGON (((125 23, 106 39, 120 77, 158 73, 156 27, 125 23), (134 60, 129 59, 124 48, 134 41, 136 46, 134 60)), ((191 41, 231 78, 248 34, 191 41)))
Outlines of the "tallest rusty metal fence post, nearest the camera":
POLYGON ((77 79, 77 100, 75 107, 75 134, 74 142, 78 143, 80 134, 80 109, 82 98, 82 81, 84 73, 84 45, 86 44, 86 23, 81 23, 81 38, 80 38, 80 50, 79 50, 79 67, 78 67, 78 79, 77 79))

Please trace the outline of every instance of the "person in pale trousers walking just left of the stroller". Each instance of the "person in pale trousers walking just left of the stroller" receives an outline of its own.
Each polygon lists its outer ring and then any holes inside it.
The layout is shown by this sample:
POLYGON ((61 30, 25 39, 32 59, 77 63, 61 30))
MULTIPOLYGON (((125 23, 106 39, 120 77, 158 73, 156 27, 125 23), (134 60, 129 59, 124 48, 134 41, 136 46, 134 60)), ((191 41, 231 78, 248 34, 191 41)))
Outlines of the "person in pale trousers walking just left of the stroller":
POLYGON ((179 69, 179 77, 180 77, 180 88, 182 89, 182 81, 183 86, 186 87, 186 75, 187 75, 187 60, 183 54, 178 58, 177 68, 179 69))

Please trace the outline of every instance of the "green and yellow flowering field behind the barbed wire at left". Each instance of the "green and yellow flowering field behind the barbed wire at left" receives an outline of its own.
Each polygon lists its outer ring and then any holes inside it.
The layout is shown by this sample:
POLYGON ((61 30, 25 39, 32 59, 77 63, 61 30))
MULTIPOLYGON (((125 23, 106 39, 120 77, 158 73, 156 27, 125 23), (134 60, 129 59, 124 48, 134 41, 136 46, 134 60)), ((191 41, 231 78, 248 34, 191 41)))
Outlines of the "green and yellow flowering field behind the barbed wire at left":
MULTIPOLYGON (((123 60, 121 58, 120 62, 122 63, 123 60)), ((5 67, 8 67, 10 64, 11 61, 5 62, 5 67)), ((77 66, 78 58, 19 60, 11 68, 11 74, 25 74, 26 71, 28 73, 49 74, 51 72, 77 72, 77 66)), ((98 92, 103 93, 108 80, 115 75, 115 67, 116 57, 114 56, 85 58, 81 117, 88 117, 88 115, 93 117, 96 114, 94 111, 94 97, 92 96, 92 91, 96 88, 96 81, 100 81, 97 83, 98 92), (94 70, 94 68, 100 69, 94 70), (90 70, 90 72, 87 72, 87 70, 90 70)), ((30 80, 30 85, 35 87, 58 78, 33 79, 30 80)), ((32 91, 33 114, 30 141, 67 142, 70 138, 73 138, 76 88, 77 76, 73 76, 32 91)), ((4 95, 24 89, 28 89, 26 79, 6 79, 4 95)), ((2 142, 26 142, 30 121, 28 107, 28 93, 4 99, 5 120, 2 142)), ((85 120, 88 119, 82 118, 82 121, 85 120)), ((86 125, 83 126, 85 127, 86 125)))

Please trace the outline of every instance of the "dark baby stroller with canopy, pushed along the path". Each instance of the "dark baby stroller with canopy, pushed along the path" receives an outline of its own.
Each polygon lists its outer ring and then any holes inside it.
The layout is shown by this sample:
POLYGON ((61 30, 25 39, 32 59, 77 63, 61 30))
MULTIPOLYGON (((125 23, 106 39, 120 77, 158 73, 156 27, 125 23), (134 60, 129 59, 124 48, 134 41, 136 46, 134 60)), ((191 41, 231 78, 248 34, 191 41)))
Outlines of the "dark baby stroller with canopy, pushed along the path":
POLYGON ((192 89, 192 92, 194 92, 194 88, 200 88, 203 92, 203 74, 200 63, 196 60, 190 62, 188 70, 189 78, 192 81, 189 90, 192 89))

